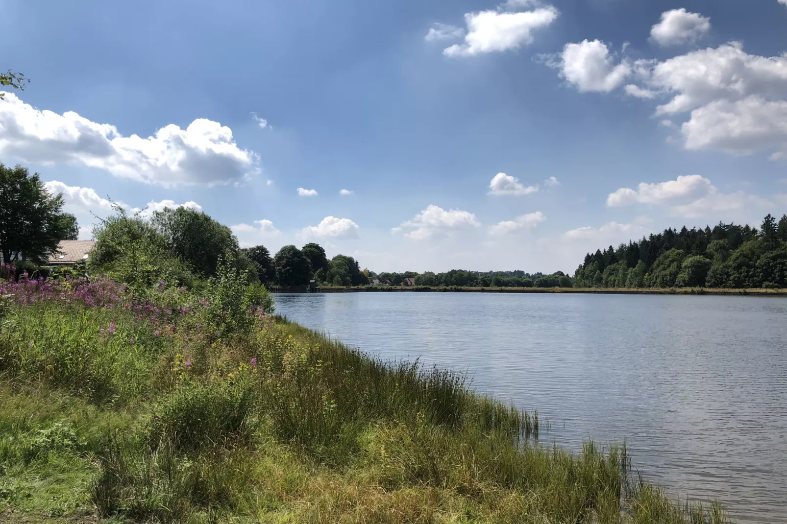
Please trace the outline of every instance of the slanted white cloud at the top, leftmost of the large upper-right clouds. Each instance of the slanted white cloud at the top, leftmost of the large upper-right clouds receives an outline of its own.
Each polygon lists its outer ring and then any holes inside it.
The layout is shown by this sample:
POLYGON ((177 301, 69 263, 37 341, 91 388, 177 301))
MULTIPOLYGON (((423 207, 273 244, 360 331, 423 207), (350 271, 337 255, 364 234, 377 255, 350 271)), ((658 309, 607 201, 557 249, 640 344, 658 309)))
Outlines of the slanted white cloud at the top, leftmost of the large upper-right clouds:
POLYGON ((519 49, 533 42, 531 31, 552 24, 558 15, 558 10, 552 6, 520 13, 497 10, 466 13, 464 21, 467 24, 467 35, 464 43, 446 47, 443 54, 448 57, 469 57, 519 49))

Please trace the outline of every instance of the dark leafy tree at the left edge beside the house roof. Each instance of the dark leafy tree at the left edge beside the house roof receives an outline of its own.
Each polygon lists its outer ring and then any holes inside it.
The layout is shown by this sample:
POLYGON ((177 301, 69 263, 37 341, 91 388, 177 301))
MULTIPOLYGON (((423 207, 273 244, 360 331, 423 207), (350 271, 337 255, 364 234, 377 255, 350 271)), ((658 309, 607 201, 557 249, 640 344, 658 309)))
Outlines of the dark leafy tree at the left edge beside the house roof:
POLYGON ((65 238, 63 197, 46 190, 38 173, 0 164, 0 253, 6 262, 23 256, 43 264, 65 238))

